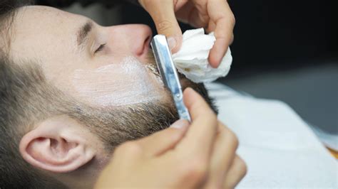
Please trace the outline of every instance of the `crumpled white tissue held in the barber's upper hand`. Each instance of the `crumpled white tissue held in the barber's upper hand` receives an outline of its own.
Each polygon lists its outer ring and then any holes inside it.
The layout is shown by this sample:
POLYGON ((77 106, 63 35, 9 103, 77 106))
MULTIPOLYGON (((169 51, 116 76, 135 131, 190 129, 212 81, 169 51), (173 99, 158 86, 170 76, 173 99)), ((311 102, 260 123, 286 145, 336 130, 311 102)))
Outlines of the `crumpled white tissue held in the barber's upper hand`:
POLYGON ((231 51, 228 48, 219 67, 212 68, 208 56, 214 43, 214 34, 205 35, 203 28, 185 31, 182 47, 178 53, 173 54, 178 72, 193 82, 212 82, 218 77, 225 77, 232 63, 231 51))

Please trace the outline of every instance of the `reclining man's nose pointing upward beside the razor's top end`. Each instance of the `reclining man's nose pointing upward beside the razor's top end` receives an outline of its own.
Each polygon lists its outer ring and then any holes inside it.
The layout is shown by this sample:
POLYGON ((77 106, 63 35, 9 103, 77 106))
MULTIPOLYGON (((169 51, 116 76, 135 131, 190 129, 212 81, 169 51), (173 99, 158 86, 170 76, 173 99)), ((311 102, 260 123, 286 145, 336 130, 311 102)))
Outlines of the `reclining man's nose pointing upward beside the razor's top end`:
POLYGON ((113 45, 124 44, 125 47, 118 47, 118 50, 125 50, 137 58, 145 58, 148 53, 150 40, 153 35, 149 26, 144 24, 127 24, 120 26, 112 26, 113 41, 121 43, 113 43, 113 45), (115 39, 115 40, 114 40, 115 39))

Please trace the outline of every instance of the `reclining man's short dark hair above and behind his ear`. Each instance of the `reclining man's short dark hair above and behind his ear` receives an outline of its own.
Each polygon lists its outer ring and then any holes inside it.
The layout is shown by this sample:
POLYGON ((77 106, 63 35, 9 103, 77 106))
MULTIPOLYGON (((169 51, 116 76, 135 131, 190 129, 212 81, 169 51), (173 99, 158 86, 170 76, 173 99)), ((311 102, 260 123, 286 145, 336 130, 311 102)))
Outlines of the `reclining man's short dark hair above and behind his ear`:
POLYGON ((29 3, 0 0, 0 188, 64 188, 31 167, 19 153, 29 124, 44 116, 45 107, 36 102, 48 99, 43 97, 48 85, 36 64, 13 63, 8 55, 16 11, 29 3))

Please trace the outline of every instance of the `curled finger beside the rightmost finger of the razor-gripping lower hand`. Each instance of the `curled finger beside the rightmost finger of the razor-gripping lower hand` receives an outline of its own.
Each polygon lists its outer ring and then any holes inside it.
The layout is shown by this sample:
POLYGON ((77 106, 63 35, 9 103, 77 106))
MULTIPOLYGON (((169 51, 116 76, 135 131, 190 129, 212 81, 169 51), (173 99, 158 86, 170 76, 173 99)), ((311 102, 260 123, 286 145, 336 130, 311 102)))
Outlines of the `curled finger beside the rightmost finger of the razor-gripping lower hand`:
POLYGON ((237 137, 221 122, 218 124, 217 139, 212 149, 207 188, 222 188, 225 173, 230 170, 238 146, 237 137))

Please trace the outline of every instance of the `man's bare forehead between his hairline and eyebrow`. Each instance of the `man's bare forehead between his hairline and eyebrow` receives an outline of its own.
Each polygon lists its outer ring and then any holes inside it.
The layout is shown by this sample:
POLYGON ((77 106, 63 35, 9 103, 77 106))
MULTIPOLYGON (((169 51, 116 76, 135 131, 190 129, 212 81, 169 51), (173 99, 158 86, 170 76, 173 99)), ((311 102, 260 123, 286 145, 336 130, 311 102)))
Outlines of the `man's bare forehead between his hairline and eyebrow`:
POLYGON ((43 53, 72 49, 76 30, 86 20, 86 17, 48 6, 25 6, 14 19, 12 57, 30 59, 39 55, 43 58, 43 53))

